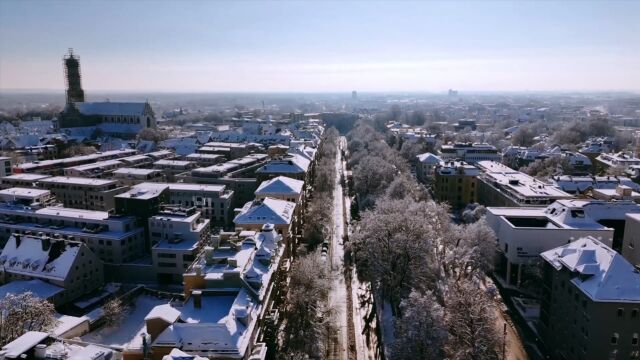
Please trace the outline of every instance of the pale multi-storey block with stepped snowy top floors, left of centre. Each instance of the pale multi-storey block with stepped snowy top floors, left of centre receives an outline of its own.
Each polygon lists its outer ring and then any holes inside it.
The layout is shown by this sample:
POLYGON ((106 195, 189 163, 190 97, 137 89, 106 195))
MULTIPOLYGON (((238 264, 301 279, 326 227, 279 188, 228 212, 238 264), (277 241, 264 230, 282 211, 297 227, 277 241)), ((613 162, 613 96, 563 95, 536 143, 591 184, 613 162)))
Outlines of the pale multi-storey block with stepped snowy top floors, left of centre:
POLYGON ((209 219, 195 207, 164 207, 149 218, 151 257, 161 283, 181 283, 200 249, 210 243, 209 219))

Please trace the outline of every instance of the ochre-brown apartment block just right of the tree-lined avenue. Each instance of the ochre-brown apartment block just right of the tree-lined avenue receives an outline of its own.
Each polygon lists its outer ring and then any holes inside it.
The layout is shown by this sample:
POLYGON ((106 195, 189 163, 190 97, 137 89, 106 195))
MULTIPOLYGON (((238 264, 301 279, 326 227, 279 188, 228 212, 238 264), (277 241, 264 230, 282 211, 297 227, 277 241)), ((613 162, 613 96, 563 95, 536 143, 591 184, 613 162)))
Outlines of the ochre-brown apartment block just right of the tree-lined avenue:
POLYGON ((459 209, 478 198, 480 170, 463 161, 445 161, 435 169, 436 200, 459 209))

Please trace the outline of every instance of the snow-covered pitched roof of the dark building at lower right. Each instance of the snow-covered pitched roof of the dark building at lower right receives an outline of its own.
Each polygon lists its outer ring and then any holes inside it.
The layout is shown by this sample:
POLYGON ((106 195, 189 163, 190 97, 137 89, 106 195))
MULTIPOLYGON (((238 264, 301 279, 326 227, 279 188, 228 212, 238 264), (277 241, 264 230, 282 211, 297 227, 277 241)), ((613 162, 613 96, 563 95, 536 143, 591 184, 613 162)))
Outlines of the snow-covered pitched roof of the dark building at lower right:
POLYGON ((592 236, 541 256, 557 270, 566 268, 579 274, 571 282, 593 301, 640 303, 640 272, 592 236))

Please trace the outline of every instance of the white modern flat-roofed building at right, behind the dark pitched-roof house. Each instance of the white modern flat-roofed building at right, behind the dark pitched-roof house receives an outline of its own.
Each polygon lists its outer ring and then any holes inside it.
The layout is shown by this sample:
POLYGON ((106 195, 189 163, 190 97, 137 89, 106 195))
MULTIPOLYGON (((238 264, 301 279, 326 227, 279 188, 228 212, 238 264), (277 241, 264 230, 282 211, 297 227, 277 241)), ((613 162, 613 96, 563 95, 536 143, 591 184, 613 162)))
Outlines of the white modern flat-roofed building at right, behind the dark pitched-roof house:
POLYGON ((547 207, 489 207, 486 220, 497 237, 496 275, 506 285, 535 282, 540 253, 585 236, 621 249, 627 214, 640 213, 628 201, 558 200, 547 207))

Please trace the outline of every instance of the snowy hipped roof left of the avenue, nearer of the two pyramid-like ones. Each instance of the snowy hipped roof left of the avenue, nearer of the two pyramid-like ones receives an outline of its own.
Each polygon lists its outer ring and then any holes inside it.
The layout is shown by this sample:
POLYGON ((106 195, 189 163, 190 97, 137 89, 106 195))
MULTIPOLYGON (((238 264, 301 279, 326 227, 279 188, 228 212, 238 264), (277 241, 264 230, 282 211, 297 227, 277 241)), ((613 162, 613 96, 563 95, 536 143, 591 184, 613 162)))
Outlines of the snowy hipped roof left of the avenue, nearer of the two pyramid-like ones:
POLYGON ((241 212, 233 219, 235 224, 275 224, 288 225, 293 217, 296 204, 290 201, 265 198, 244 205, 241 212))

